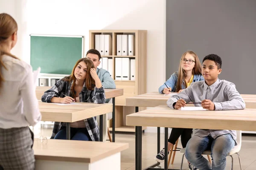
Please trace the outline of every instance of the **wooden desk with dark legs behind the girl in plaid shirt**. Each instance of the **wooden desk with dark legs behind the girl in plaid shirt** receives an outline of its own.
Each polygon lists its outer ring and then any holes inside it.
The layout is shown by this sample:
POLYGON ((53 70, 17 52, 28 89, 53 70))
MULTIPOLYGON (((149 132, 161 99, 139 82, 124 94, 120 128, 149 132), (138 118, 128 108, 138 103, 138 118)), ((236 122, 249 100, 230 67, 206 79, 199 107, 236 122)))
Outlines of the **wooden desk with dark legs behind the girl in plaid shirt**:
MULTIPOLYGON (((41 100, 41 97, 43 96, 44 92, 49 90, 52 87, 42 87, 42 86, 37 86, 35 90, 35 94, 38 100, 41 100)), ((112 142, 115 142, 115 97, 122 96, 124 94, 123 89, 105 89, 105 95, 106 99, 113 99, 113 111, 112 111, 112 142)), ((103 116, 100 115, 99 117, 100 122, 103 122, 103 116)), ((100 125, 102 125, 100 123, 100 125)), ((100 126, 100 133, 103 133, 103 127, 100 126)), ((101 136, 102 137, 102 136, 101 136)), ((103 139, 102 139, 103 140, 103 139)))

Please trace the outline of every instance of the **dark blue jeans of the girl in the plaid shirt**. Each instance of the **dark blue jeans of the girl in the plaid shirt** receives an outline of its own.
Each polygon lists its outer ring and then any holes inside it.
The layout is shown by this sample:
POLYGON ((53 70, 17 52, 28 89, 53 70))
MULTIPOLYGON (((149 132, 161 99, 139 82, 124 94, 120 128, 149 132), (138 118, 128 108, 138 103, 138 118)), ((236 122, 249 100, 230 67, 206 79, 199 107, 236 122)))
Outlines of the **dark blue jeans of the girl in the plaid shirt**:
MULTIPOLYGON (((54 139, 67 139, 66 138, 66 126, 61 127, 54 139)), ((74 128, 70 127, 70 139, 77 141, 91 141, 90 135, 86 127, 84 128, 74 128)))

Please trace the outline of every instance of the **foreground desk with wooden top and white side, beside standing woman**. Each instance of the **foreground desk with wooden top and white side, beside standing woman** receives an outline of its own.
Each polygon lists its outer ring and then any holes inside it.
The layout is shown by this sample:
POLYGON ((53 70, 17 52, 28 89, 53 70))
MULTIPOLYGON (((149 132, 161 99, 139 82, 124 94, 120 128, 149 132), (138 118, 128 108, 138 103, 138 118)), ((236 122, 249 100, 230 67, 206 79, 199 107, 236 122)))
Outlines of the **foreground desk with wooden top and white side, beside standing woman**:
POLYGON ((127 148, 127 143, 35 139, 35 170, 120 170, 120 152, 127 148))

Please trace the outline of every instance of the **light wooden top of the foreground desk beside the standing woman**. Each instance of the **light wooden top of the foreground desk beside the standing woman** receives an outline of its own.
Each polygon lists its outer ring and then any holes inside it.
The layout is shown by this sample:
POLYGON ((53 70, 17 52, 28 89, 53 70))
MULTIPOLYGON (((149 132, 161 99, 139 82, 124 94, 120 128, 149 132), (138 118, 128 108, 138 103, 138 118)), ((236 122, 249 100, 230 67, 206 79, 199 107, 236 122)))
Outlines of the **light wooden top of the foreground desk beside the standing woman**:
POLYGON ((36 160, 93 163, 129 147, 128 143, 48 139, 47 144, 35 139, 36 160))

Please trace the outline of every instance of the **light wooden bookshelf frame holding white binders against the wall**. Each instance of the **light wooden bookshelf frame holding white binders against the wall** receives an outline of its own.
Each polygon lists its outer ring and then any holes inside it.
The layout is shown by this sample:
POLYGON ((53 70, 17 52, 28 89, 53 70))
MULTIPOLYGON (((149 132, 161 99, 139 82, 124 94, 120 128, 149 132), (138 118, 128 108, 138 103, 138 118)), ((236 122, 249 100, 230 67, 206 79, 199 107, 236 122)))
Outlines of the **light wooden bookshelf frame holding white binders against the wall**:
MULTIPOLYGON (((146 87, 146 69, 147 69, 147 31, 146 30, 90 30, 89 31, 89 48, 95 48, 95 35, 108 34, 112 39, 112 53, 111 55, 102 55, 113 59, 113 67, 111 77, 115 79, 115 58, 126 57, 135 59, 135 80, 115 80, 116 88, 123 88, 124 95, 116 97, 116 131, 135 132, 135 128, 126 125, 126 115, 134 113, 135 107, 125 106, 125 98, 145 94, 146 87), (116 36, 122 34, 134 35, 134 55, 120 56, 116 55, 116 36)), ((145 108, 139 108, 139 111, 145 108)), ((111 122, 109 122, 109 130, 111 122)), ((145 130, 146 127, 143 127, 145 130)))

